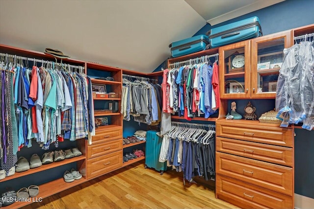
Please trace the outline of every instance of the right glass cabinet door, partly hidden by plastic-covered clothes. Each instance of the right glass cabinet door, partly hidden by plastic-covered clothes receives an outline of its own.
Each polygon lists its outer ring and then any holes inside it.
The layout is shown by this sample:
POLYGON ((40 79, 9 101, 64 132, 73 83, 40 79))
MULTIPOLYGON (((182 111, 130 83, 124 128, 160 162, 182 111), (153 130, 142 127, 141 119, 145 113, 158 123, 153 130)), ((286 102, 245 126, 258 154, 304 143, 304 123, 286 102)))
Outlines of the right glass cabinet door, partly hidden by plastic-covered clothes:
POLYGON ((284 60, 284 48, 290 47, 291 31, 252 40, 251 96, 275 98, 279 70, 284 60))

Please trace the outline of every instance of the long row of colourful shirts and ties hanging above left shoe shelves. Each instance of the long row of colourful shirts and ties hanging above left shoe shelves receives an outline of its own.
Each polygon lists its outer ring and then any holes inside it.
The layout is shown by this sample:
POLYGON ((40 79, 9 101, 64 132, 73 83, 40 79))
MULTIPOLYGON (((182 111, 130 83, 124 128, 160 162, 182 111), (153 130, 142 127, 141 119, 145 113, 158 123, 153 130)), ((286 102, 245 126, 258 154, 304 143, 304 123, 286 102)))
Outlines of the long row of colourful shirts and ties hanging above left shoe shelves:
POLYGON ((32 146, 32 139, 43 149, 52 143, 57 147, 64 139, 86 138, 91 144, 95 135, 91 81, 83 73, 57 70, 57 65, 29 69, 22 63, 0 63, 0 159, 7 172, 14 167, 17 152, 32 146))

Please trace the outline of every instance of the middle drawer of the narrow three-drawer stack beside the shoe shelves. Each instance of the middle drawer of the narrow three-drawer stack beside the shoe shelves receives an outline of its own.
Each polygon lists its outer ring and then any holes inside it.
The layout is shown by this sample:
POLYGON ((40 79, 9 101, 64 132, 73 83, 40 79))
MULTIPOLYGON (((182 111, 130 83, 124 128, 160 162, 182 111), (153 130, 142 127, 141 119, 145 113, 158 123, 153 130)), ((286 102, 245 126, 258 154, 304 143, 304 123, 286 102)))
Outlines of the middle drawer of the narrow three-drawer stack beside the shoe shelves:
POLYGON ((106 141, 100 144, 93 144, 87 147, 87 159, 95 158, 122 149, 122 139, 106 141))

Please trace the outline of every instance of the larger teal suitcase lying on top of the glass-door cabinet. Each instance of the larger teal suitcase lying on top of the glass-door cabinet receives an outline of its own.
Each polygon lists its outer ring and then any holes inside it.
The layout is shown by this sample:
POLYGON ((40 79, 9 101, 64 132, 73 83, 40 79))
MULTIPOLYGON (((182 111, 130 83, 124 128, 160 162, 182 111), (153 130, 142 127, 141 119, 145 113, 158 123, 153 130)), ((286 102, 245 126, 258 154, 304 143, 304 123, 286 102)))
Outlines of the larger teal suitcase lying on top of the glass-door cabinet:
POLYGON ((207 35, 209 35, 209 47, 214 48, 262 36, 262 28, 259 18, 255 16, 212 28, 207 35))

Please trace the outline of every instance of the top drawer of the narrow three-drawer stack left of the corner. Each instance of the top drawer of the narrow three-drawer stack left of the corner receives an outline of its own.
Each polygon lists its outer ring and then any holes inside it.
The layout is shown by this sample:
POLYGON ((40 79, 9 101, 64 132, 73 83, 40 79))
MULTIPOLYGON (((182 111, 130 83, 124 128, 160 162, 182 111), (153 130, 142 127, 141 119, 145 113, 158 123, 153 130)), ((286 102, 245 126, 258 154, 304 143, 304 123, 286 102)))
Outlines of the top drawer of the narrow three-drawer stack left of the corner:
POLYGON ((97 131, 96 135, 92 138, 92 144, 102 143, 114 139, 122 139, 122 128, 97 131))

